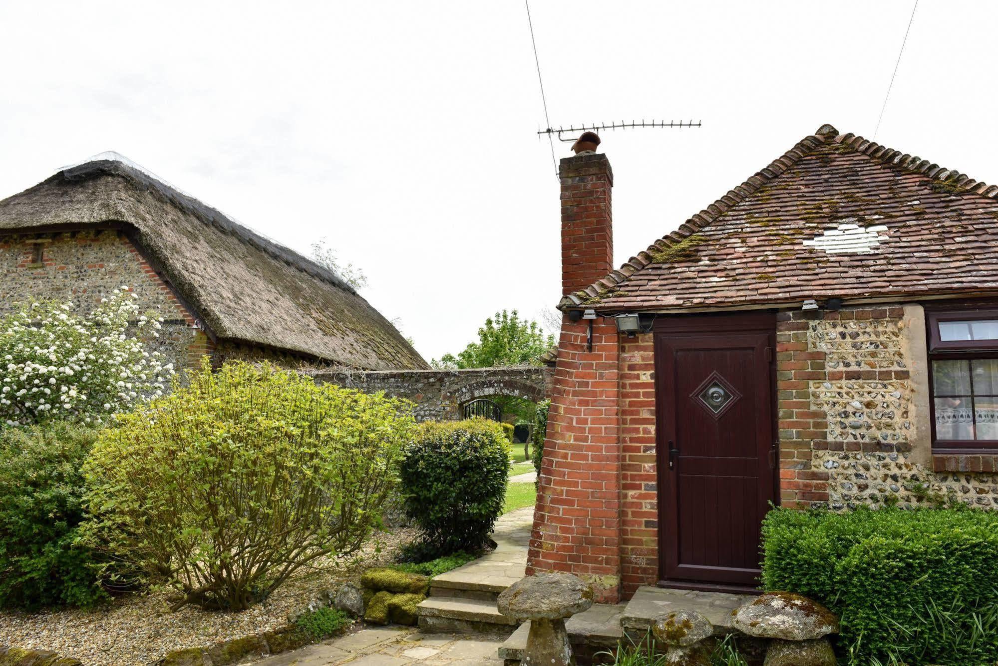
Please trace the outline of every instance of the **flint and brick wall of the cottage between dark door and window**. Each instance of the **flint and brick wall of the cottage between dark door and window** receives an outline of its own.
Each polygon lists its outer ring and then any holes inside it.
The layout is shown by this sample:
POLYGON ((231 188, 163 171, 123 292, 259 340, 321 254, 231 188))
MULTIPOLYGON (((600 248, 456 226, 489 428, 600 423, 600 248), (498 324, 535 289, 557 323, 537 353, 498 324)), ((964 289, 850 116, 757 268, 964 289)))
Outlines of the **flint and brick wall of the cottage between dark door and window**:
POLYGON ((932 453, 920 306, 782 313, 776 340, 784 506, 998 505, 993 456, 932 453))

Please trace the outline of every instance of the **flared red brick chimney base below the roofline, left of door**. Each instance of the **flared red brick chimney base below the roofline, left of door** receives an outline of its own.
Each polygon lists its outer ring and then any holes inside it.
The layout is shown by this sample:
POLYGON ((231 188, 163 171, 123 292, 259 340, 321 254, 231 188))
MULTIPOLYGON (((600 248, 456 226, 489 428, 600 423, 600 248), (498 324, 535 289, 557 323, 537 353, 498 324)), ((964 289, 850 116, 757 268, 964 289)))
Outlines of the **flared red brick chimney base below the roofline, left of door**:
POLYGON ((562 325, 528 574, 566 571, 621 598, 620 346, 613 320, 562 325))

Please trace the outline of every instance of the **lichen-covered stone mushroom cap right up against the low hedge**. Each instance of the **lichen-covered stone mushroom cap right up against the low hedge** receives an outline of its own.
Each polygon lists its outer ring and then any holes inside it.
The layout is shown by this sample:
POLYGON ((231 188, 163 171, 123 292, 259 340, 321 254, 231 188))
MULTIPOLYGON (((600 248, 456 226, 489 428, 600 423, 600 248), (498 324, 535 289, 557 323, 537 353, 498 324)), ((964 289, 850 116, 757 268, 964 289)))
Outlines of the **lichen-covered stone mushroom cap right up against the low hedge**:
POLYGON ((732 626, 757 638, 803 641, 838 633, 838 618, 807 597, 766 592, 732 611, 732 626))

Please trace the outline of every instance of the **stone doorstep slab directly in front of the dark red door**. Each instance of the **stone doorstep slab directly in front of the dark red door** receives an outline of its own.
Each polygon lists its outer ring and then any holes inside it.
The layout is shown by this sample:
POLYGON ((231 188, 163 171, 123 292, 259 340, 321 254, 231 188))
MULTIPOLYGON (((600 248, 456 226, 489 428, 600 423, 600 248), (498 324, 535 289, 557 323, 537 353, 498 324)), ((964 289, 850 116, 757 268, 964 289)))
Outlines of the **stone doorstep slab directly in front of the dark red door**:
POLYGON ((751 594, 639 587, 624 609, 621 625, 627 630, 644 633, 663 613, 695 610, 711 621, 715 635, 722 636, 734 631, 732 611, 754 598, 751 594))

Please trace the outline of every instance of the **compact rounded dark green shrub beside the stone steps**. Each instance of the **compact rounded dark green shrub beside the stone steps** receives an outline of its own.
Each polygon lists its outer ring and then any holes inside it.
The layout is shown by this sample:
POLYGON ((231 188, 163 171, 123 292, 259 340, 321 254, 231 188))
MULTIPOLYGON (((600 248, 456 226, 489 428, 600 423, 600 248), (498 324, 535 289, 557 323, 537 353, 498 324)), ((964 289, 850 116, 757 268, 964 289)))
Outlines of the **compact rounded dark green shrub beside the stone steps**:
POLYGON ((495 421, 420 424, 400 466, 406 514, 422 530, 418 559, 474 552, 488 542, 502 514, 510 449, 495 421))

